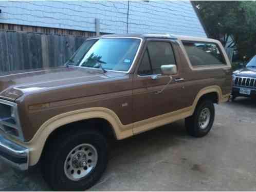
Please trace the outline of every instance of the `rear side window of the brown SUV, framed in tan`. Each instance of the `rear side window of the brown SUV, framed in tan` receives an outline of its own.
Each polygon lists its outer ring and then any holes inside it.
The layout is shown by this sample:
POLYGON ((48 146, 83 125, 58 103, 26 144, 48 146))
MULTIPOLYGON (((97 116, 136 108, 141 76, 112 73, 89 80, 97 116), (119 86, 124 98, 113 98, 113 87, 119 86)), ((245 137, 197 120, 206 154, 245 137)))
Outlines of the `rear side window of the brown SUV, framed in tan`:
POLYGON ((192 66, 226 65, 217 44, 212 42, 182 41, 192 66))

